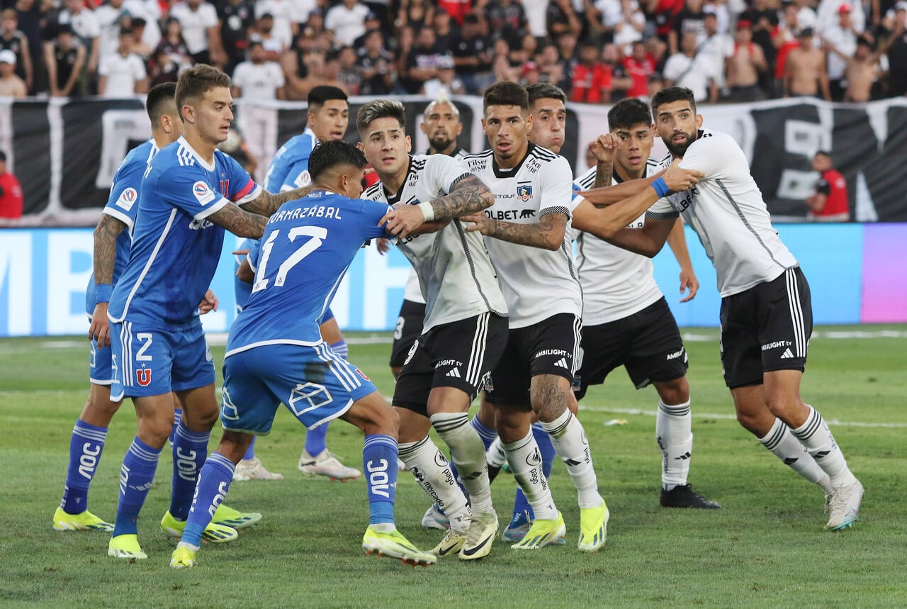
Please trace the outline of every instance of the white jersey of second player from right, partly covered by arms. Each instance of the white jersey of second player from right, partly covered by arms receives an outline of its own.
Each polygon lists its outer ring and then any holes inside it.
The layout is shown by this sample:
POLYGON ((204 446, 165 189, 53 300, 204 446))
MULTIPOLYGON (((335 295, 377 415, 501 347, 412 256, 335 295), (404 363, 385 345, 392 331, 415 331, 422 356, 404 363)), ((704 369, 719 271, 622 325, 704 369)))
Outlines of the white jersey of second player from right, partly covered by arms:
MULTIPOLYGON (((588 191, 595 184, 596 168, 576 180, 580 191, 588 191)), ((645 176, 658 172, 658 161, 646 162, 645 176)), ((621 180, 614 172, 611 184, 621 180)), ((643 214, 629 223, 629 229, 641 229, 643 214)), ((576 266, 580 271, 582 286, 582 325, 600 326, 629 317, 662 298, 661 290, 653 275, 652 259, 624 250, 603 241, 588 232, 575 231, 577 243, 576 266)))

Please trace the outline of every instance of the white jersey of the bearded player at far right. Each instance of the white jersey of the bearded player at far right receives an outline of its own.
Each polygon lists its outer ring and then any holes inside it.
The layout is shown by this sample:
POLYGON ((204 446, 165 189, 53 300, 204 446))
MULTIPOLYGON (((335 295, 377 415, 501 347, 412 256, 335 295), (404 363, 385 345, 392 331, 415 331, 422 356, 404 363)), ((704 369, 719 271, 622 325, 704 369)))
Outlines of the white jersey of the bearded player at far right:
MULTIPOLYGON (((659 167, 670 162, 667 158, 659 167)), ((798 266, 772 226, 746 155, 730 135, 700 130, 680 166, 704 172, 706 178, 688 191, 660 199, 647 215, 683 216, 715 266, 722 298, 798 266)))

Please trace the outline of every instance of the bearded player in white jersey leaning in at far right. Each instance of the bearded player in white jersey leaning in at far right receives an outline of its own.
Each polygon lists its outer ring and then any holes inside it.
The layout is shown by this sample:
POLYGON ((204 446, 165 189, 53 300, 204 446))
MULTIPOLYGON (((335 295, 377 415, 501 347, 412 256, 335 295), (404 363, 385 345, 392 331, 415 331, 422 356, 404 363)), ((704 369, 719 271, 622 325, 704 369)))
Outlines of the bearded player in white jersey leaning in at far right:
MULTIPOLYGON (((822 487, 830 511, 827 529, 852 526, 863 486, 822 415, 800 398, 813 329, 803 271, 772 227, 746 155, 726 133, 702 129, 693 94, 682 87, 663 89, 652 99, 652 114, 671 156, 705 178, 688 192, 665 198, 667 189, 658 180, 652 188, 644 186, 603 210, 608 228, 600 236, 654 256, 678 213, 683 215, 717 270, 721 362, 737 420, 786 465, 822 487), (619 231, 642 212, 643 229, 619 231)), ((583 196, 614 202, 613 192, 583 196)))

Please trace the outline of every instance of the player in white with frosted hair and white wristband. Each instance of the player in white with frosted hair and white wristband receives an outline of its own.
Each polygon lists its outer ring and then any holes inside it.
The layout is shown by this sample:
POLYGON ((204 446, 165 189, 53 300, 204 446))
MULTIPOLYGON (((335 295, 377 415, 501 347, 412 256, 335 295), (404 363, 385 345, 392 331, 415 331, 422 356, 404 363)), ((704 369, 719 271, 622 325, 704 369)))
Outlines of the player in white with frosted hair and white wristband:
POLYGON ((400 102, 366 103, 356 127, 381 179, 364 196, 395 205, 385 216, 386 229, 413 264, 425 300, 423 333, 409 349, 394 391, 400 458, 450 518, 433 553, 482 558, 491 551, 498 517, 483 441, 467 413, 501 358, 507 304, 482 236, 467 232, 457 216, 489 207, 492 192, 450 156, 411 157, 400 102), (450 447, 469 500, 428 436, 430 427, 450 447))

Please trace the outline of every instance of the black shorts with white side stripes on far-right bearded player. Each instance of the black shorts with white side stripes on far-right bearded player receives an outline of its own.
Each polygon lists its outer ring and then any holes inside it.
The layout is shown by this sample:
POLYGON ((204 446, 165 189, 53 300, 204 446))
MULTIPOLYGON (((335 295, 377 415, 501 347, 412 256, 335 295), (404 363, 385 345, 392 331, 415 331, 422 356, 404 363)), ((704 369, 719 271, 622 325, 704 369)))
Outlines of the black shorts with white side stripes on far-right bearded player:
POLYGON ((809 284, 799 268, 721 300, 721 365, 728 388, 761 385, 764 372, 800 370, 813 334, 809 284))

